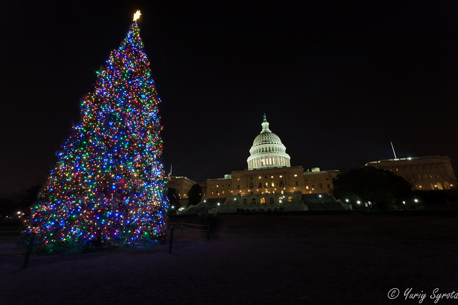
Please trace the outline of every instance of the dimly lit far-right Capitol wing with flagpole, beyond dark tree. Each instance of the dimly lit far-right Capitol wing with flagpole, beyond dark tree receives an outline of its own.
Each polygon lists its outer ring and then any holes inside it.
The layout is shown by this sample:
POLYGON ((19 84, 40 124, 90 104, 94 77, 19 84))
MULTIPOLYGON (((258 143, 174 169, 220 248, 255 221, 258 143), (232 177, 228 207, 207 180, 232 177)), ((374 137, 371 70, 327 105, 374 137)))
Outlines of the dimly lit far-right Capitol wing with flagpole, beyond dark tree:
POLYGON ((449 190, 457 185, 447 156, 379 160, 365 166, 389 170, 409 181, 414 190, 449 190))

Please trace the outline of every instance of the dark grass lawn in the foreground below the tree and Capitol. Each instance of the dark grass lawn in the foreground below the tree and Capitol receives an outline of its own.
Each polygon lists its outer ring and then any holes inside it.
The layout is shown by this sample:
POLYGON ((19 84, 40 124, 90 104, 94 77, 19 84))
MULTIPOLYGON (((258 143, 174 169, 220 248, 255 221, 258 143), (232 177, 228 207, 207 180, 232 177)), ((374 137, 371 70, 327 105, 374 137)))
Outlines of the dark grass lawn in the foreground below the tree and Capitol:
POLYGON ((210 241, 180 221, 172 254, 168 242, 33 254, 21 269, 24 250, 3 240, 0 304, 418 304, 410 288, 434 304, 458 291, 457 216, 222 215, 210 241))

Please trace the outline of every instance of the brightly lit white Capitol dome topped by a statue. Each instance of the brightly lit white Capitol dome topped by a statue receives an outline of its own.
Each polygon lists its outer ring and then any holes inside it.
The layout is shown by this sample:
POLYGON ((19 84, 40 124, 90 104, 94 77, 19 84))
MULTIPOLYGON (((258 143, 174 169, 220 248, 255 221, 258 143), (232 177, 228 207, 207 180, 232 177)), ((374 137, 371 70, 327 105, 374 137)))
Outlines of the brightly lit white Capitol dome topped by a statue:
POLYGON ((270 131, 269 123, 264 114, 261 124, 263 130, 254 138, 250 149, 250 157, 246 160, 248 169, 269 168, 278 166, 291 166, 290 155, 286 153, 286 147, 280 138, 270 131))

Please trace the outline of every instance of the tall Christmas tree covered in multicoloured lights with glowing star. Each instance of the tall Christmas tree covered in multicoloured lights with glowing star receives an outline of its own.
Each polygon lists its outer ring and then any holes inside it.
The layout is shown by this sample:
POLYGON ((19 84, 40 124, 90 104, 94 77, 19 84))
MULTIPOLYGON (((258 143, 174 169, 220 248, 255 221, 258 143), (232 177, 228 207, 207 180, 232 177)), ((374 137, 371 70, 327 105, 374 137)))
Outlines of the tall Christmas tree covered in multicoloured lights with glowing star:
POLYGON ((94 93, 62 145, 27 232, 52 250, 162 239, 168 177, 158 103, 136 19, 97 72, 94 93))

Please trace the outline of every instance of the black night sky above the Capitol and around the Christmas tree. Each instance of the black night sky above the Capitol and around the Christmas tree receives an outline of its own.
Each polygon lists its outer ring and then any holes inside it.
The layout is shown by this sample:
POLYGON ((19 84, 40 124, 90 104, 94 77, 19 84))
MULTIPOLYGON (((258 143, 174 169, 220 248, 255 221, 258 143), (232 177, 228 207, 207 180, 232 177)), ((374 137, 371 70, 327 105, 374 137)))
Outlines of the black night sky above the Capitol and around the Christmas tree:
POLYGON ((455 1, 118 3, 1 2, 0 193, 46 179, 137 9, 166 171, 247 168, 266 113, 293 166, 359 167, 393 158, 392 141, 458 172, 455 1))

